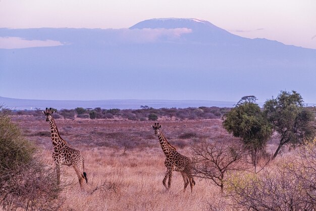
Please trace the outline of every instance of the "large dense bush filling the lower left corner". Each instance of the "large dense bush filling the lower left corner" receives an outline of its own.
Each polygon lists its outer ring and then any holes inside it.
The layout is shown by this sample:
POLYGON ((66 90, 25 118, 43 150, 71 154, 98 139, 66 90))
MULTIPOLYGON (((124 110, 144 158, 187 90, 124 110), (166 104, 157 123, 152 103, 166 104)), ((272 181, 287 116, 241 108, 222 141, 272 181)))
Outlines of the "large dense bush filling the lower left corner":
POLYGON ((56 174, 36 153, 0 107, 0 204, 4 210, 58 210, 64 202, 56 174))

